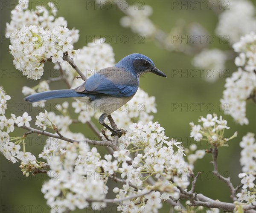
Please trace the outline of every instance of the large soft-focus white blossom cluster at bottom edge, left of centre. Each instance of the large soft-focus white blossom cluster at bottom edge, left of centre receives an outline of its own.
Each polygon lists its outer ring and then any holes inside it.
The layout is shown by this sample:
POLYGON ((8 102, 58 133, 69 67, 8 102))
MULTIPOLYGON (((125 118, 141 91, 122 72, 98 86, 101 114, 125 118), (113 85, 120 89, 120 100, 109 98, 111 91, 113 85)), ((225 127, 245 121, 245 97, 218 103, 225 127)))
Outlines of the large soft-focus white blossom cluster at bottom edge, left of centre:
MULTIPOLYGON (((76 208, 84 209, 89 206, 87 199, 105 199, 108 192, 106 179, 101 176, 99 169, 100 154, 95 147, 90 147, 85 142, 70 144, 66 141, 64 149, 49 147, 44 149, 45 156, 50 165, 47 172, 49 181, 43 184, 42 193, 47 199, 47 204, 52 208, 58 207, 58 212, 67 212, 76 208), (51 153, 49 155, 48 153, 51 153), (96 171, 98 170, 98 171, 96 171)), ((60 145, 60 144, 58 144, 60 145)), ((93 202, 94 210, 105 207, 102 202, 93 202)))

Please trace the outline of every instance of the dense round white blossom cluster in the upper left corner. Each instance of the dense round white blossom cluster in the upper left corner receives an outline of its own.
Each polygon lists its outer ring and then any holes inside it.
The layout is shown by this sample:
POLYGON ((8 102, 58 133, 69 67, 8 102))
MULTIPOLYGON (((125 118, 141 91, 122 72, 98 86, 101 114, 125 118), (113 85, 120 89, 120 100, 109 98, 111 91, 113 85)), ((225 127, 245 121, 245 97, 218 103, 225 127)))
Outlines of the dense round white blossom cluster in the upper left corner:
POLYGON ((43 75, 44 62, 49 58, 53 63, 61 63, 64 52, 73 58, 76 53, 73 43, 79 39, 79 31, 67 29, 63 17, 55 19, 57 11, 53 3, 49 3, 50 12, 45 7, 27 10, 28 5, 29 1, 20 0, 12 10, 12 20, 6 24, 6 37, 10 38, 15 68, 27 78, 37 80, 43 75))

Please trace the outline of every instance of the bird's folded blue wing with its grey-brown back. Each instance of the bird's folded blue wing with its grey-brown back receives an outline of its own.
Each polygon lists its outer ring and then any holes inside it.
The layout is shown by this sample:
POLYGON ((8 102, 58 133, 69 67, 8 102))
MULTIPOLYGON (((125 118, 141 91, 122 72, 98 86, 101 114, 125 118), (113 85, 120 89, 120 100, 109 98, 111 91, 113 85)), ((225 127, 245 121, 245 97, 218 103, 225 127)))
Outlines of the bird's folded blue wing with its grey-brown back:
POLYGON ((138 89, 137 78, 123 69, 105 68, 90 76, 76 92, 128 97, 138 89), (124 73, 125 72, 125 73, 124 73))

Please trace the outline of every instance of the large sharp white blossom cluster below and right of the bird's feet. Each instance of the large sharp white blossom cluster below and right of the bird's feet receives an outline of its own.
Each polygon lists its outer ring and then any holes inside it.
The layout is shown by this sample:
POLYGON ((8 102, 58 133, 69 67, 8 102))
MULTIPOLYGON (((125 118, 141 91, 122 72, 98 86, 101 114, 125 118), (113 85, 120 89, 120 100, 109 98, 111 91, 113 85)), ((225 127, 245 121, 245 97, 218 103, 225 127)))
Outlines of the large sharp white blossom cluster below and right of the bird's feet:
MULTIPOLYGON (((121 177, 125 178, 127 183, 141 187, 143 182, 152 176, 157 181, 161 180, 162 186, 171 187, 172 192, 161 194, 153 191, 146 196, 119 203, 118 210, 128 212, 127 208, 129 208, 130 211, 143 210, 143 212, 151 212, 154 210, 154 212, 157 212, 157 209, 162 207, 163 200, 170 199, 170 196, 179 199, 179 195, 173 190, 174 188, 177 190, 177 188, 172 183, 183 189, 188 187, 189 177, 186 172, 188 164, 183 158, 184 148, 180 145, 180 142, 175 140, 166 141, 167 138, 164 134, 164 128, 160 127, 157 122, 150 122, 145 125, 139 122, 130 125, 128 133, 119 139, 121 147, 118 153, 124 153, 124 157, 127 157, 128 153, 136 153, 131 165, 126 162, 122 163, 122 167, 119 168, 121 177), (129 146, 132 146, 129 152, 122 150, 123 148, 127 149, 129 146), (135 147, 137 149, 134 149, 135 147), (177 151, 174 149, 177 149, 177 151), (142 150, 142 152, 138 152, 138 150, 142 150)), ((124 161, 124 158, 122 161, 124 161)), ((118 193, 116 198, 123 199, 127 196, 144 193, 147 190, 150 190, 150 188, 134 190, 128 184, 125 184, 122 189, 114 188, 113 192, 118 193)))

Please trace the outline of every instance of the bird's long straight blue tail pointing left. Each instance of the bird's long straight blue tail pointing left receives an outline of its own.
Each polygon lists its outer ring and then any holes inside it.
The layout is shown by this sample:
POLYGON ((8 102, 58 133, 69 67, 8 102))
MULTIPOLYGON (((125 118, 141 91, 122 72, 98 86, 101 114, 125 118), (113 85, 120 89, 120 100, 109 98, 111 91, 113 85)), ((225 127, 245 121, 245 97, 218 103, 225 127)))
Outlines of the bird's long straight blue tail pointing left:
POLYGON ((29 95, 24 98, 25 101, 30 103, 43 101, 53 98, 74 98, 74 97, 84 97, 86 94, 78 93, 73 89, 59 89, 59 90, 52 90, 46 92, 39 92, 33 95, 29 95))

